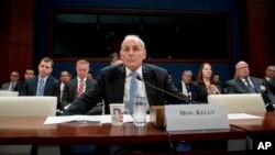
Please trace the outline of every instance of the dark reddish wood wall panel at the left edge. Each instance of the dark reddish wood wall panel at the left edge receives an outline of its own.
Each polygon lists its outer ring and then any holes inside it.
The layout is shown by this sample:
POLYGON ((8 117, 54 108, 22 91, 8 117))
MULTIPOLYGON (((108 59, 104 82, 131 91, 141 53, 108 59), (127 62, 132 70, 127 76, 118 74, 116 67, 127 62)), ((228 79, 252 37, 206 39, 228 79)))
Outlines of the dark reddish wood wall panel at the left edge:
POLYGON ((33 68, 34 0, 1 1, 0 82, 9 81, 19 70, 21 80, 26 68, 33 68), (4 3, 4 5, 2 5, 4 3))

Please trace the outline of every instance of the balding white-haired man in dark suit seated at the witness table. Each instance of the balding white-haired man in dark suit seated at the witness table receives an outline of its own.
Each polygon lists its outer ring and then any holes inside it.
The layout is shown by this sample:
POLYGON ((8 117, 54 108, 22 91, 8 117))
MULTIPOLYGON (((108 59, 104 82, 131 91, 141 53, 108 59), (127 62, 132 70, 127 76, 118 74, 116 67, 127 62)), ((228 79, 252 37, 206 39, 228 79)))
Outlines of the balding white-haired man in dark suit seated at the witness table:
MULTIPOLYGON (((143 64, 146 58, 146 49, 144 42, 136 35, 128 35, 121 44, 120 57, 123 62, 121 65, 108 66, 100 70, 99 78, 91 89, 84 93, 77 102, 74 102, 66 111, 65 114, 81 114, 87 113, 101 100, 105 100, 105 111, 110 113, 109 103, 124 103, 125 112, 132 111, 132 91, 133 86, 140 91, 144 91, 147 97, 148 106, 162 106, 164 100, 169 103, 189 103, 186 96, 179 92, 168 80, 168 74, 165 69, 154 65, 143 64), (144 79, 144 81, 174 93, 182 98, 168 96, 162 91, 156 90, 143 81, 138 80, 136 77, 144 79)), ((146 148, 162 152, 160 144, 154 147, 153 144, 138 144, 135 146, 145 145, 146 148)), ((121 148, 121 147, 120 147, 121 148)), ((128 147, 130 148, 130 147, 128 147)), ((110 150, 105 150, 110 151, 110 150)), ((109 152, 110 153, 110 152, 109 152)), ((116 151, 112 151, 116 153, 116 151)), ((127 153, 132 153, 128 150, 127 153)))

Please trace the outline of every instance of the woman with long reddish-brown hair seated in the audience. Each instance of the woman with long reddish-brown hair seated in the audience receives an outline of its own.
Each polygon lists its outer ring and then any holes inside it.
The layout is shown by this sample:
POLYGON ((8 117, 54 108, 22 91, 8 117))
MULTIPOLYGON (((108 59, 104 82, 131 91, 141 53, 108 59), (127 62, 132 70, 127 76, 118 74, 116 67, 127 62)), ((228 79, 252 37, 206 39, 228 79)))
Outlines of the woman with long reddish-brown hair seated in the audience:
POLYGON ((197 77, 197 98, 199 102, 208 103, 208 95, 222 93, 222 89, 213 80, 212 67, 209 63, 204 63, 197 77))

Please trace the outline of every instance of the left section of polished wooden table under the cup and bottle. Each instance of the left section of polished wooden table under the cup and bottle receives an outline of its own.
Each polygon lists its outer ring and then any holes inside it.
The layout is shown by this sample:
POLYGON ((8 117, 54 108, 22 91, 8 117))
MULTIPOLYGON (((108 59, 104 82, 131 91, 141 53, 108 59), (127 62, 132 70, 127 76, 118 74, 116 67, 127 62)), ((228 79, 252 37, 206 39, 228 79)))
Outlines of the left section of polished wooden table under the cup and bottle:
POLYGON ((167 142, 167 133, 147 124, 70 122, 44 125, 46 117, 0 117, 0 144, 120 144, 167 142))

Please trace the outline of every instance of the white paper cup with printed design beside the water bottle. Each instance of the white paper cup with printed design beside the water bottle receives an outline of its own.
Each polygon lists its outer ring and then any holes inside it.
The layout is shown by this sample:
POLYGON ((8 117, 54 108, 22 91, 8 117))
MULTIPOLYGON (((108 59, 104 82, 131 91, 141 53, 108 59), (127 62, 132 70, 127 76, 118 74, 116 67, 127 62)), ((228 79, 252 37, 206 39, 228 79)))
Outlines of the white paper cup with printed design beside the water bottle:
POLYGON ((112 125, 122 125, 124 115, 123 103, 110 103, 111 123, 112 125))

